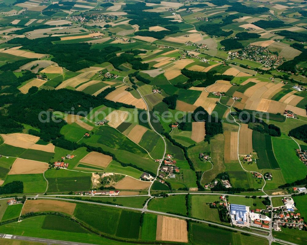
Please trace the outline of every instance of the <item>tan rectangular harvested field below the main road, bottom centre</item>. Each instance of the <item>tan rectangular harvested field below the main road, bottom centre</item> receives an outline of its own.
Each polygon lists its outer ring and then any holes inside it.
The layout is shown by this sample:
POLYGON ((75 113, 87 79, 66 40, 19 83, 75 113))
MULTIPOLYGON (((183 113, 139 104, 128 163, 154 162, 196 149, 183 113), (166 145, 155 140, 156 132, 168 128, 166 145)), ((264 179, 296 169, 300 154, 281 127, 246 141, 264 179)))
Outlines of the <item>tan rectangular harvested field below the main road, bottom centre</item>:
POLYGON ((187 221, 158 215, 156 240, 187 243, 187 221))

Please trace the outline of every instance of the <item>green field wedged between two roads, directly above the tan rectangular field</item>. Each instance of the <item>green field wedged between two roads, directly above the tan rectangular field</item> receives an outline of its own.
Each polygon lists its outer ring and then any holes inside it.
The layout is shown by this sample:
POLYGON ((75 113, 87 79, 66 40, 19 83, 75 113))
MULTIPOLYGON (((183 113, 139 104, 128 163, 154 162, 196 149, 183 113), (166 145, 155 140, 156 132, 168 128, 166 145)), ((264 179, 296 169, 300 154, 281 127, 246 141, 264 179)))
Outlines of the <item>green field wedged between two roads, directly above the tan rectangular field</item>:
POLYGON ((149 202, 148 208, 160 212, 180 213, 182 215, 187 214, 185 195, 154 198, 149 202))

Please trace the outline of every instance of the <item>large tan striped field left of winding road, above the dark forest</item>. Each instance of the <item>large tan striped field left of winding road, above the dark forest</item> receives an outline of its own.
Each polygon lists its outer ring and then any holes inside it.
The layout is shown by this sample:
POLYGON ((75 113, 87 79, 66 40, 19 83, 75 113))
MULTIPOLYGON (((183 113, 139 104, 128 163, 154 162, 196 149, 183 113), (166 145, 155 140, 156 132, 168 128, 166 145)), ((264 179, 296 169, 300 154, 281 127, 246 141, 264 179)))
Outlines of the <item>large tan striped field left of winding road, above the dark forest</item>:
POLYGON ((112 91, 106 96, 106 99, 111 101, 122 102, 128 105, 134 105, 136 108, 147 109, 145 102, 142 99, 135 98, 129 93, 126 88, 129 86, 121 86, 120 88, 112 91))

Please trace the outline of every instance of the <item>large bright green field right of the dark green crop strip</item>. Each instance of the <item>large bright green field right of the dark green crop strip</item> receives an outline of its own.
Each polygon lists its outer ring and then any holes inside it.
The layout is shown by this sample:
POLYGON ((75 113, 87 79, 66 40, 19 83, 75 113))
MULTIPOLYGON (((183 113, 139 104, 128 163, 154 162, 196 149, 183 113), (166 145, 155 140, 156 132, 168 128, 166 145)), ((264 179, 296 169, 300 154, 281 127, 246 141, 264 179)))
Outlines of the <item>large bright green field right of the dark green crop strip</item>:
POLYGON ((306 166, 297 157, 294 140, 272 138, 274 154, 287 183, 291 183, 306 176, 306 166))

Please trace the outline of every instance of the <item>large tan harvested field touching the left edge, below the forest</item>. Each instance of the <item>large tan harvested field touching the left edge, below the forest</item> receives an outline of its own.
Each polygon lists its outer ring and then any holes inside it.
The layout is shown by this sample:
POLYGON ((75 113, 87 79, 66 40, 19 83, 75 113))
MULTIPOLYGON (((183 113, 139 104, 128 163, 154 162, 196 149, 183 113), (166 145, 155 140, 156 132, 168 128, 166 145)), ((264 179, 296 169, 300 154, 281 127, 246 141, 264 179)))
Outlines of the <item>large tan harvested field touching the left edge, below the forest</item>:
POLYGON ((33 144, 35 144, 39 137, 30 135, 30 134, 21 134, 21 133, 13 133, 13 134, 1 134, 4 144, 21 147, 28 149, 33 144))

